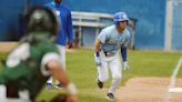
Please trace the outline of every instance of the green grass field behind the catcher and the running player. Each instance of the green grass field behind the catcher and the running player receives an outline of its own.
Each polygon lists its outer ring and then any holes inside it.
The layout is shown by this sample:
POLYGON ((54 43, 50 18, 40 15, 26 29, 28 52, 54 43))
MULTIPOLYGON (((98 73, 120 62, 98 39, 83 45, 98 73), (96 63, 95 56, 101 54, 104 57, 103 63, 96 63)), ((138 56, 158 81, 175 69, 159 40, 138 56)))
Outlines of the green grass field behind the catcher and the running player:
MULTIPOLYGON (((134 76, 168 76, 172 74, 182 53, 164 53, 162 51, 129 51, 130 71, 123 71, 121 85, 134 76)), ((2 54, 4 58, 4 54, 2 54)), ((79 102, 108 102, 104 96, 111 79, 104 89, 97 88, 97 68, 93 51, 87 49, 75 50, 67 54, 67 72, 79 89, 79 102)), ((182 78, 182 69, 178 76, 182 78)), ((59 91, 43 90, 37 101, 49 100, 59 91)))

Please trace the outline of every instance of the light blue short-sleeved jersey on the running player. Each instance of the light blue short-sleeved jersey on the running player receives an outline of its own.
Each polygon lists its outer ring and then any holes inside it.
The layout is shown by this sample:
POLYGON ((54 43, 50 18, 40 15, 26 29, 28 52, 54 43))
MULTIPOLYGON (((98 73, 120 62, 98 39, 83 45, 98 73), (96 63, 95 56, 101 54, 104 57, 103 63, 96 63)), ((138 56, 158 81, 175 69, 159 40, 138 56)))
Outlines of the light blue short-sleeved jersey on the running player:
POLYGON ((98 39, 101 41, 101 50, 114 54, 121 47, 128 45, 130 32, 125 29, 119 33, 115 26, 110 26, 100 32, 98 39))

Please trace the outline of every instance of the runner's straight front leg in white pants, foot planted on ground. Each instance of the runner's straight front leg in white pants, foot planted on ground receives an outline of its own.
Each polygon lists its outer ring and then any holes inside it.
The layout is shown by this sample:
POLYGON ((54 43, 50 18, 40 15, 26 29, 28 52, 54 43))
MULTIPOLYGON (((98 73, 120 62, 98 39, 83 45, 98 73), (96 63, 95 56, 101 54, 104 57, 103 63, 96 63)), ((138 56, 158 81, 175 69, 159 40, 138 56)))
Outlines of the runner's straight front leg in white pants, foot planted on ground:
POLYGON ((115 89, 117 86, 120 84, 121 82, 121 62, 120 62, 120 58, 119 54, 117 54, 112 61, 110 61, 110 69, 111 69, 111 73, 112 73, 112 82, 109 89, 109 92, 107 94, 107 99, 113 101, 114 100, 114 93, 115 93, 115 89))

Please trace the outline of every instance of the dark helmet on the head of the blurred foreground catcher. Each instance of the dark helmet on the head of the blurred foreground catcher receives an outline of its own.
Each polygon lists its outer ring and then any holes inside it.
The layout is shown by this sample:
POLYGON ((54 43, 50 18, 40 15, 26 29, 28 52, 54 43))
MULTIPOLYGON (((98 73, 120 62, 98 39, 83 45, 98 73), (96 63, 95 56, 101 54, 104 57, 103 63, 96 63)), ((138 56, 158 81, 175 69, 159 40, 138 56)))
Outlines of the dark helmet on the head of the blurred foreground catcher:
POLYGON ((52 10, 46 7, 34 7, 28 11, 27 31, 58 33, 59 21, 52 10))

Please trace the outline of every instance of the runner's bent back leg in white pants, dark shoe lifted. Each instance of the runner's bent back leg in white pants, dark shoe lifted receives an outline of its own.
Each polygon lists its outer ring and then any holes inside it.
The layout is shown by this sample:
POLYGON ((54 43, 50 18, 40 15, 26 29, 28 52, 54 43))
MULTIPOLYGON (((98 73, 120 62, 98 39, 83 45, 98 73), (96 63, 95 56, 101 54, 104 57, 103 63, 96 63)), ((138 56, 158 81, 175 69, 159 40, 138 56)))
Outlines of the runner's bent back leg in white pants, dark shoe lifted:
POLYGON ((103 88, 103 82, 109 79, 109 65, 107 61, 101 61, 101 67, 98 67, 98 86, 103 88))

